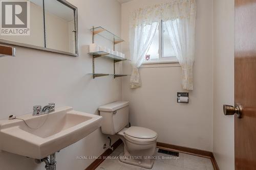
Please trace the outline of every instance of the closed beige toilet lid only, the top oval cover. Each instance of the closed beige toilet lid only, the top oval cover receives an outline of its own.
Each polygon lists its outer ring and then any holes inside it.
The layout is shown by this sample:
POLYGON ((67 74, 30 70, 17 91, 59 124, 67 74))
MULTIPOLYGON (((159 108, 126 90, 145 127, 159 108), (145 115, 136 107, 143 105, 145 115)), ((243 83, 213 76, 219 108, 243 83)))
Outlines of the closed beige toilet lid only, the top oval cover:
POLYGON ((140 138, 140 139, 152 139, 157 136, 157 133, 151 129, 136 127, 136 126, 132 126, 128 128, 124 132, 124 134, 131 137, 140 138))

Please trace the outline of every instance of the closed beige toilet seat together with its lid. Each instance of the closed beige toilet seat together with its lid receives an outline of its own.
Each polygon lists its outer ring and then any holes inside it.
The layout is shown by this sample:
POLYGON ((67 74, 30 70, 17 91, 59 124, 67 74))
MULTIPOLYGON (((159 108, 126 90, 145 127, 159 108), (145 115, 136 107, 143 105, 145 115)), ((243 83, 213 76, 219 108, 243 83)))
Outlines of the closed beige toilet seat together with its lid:
POLYGON ((157 133, 151 129, 132 126, 125 130, 124 137, 133 141, 152 142, 157 139, 157 133))

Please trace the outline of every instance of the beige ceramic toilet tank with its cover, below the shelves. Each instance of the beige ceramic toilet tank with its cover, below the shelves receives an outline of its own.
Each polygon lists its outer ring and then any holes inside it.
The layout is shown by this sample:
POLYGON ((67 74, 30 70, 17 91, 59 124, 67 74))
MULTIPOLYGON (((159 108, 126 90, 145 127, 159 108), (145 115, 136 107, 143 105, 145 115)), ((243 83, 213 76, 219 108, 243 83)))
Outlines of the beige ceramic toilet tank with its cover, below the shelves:
POLYGON ((102 116, 101 131, 114 135, 129 123, 129 102, 117 101, 99 107, 102 116))

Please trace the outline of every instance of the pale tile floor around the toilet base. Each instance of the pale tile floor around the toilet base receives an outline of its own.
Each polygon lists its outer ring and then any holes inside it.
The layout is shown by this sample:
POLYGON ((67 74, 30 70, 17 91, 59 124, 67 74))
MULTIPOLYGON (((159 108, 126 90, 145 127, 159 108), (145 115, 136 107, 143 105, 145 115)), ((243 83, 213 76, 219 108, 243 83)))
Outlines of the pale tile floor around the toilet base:
MULTIPOLYGON (((111 156, 119 156, 123 152, 123 144, 121 144, 111 156)), ((156 153, 156 156, 169 156, 156 153)), ((118 159, 105 159, 96 170, 148 170, 146 168, 126 164, 118 159)), ((156 159, 152 170, 214 170, 211 161, 208 158, 179 153, 178 159, 156 159)))

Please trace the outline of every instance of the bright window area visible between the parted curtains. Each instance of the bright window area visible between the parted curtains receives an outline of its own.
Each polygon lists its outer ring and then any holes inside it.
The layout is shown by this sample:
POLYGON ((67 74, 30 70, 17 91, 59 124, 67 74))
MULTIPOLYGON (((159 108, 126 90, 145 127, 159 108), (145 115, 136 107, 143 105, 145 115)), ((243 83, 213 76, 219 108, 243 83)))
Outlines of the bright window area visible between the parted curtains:
POLYGON ((158 23, 152 44, 146 53, 143 63, 178 62, 168 36, 164 21, 158 23))

